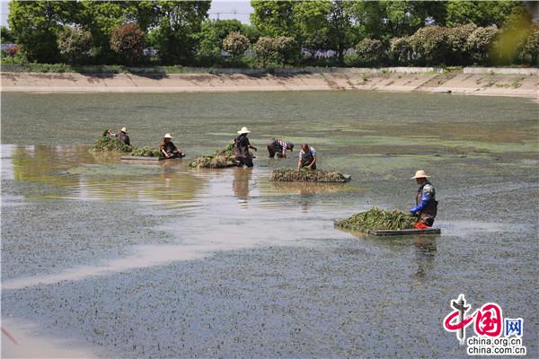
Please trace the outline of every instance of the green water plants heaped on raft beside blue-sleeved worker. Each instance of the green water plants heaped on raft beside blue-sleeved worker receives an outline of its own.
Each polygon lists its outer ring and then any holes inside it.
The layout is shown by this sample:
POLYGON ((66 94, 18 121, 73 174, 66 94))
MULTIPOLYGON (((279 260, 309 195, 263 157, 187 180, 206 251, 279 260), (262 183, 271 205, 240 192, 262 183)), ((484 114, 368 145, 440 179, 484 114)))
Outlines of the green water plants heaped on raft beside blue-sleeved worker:
POLYGON ((360 212, 351 217, 335 222, 335 226, 350 231, 367 232, 373 230, 411 230, 415 228, 419 216, 408 215, 397 209, 384 211, 380 208, 372 208, 367 212, 360 212))

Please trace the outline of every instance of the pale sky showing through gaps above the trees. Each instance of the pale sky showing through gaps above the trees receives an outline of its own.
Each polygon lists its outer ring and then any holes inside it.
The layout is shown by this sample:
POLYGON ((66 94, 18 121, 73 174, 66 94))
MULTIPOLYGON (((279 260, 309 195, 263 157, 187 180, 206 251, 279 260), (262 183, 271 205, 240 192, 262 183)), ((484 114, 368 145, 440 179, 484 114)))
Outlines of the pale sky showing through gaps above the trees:
MULTIPOLYGON (((0 0, 0 24, 7 26, 7 15, 9 13, 8 0, 0 0)), ((249 0, 229 1, 213 0, 209 9, 209 18, 221 20, 237 19, 240 22, 250 23, 249 14, 252 13, 252 7, 249 0), (235 12, 235 14, 234 14, 235 12)))

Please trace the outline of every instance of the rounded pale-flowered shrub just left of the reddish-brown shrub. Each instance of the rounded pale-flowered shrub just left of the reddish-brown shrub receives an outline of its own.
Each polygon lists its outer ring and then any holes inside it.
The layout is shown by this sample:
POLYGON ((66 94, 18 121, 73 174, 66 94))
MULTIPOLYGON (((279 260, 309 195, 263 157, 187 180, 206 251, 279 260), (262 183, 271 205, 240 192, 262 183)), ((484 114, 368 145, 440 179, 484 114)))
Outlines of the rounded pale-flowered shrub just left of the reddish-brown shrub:
POLYGON ((92 33, 67 26, 58 34, 57 46, 66 62, 80 64, 88 57, 92 48, 92 33))

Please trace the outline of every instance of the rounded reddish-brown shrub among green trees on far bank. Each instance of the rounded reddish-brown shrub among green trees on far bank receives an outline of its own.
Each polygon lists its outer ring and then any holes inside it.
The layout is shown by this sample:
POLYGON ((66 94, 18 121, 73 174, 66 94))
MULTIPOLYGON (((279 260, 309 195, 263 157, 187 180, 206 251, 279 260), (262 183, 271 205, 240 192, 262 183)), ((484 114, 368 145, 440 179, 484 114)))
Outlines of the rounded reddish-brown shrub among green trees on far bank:
POLYGON ((110 49, 126 65, 135 65, 143 56, 146 34, 136 23, 126 23, 110 35, 110 49))

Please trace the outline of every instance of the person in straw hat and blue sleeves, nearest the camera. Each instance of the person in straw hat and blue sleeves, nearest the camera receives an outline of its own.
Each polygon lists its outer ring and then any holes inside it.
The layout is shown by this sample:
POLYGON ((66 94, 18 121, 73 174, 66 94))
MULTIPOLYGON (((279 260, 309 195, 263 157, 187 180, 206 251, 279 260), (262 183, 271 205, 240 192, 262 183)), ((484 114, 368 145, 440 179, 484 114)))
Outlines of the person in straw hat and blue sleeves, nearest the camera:
POLYGON ((432 227, 437 215, 436 190, 429 182, 429 175, 423 171, 417 171, 411 180, 416 180, 420 188, 416 196, 416 206, 410 210, 412 215, 420 215, 420 220, 416 223, 416 228, 424 230, 432 227))

